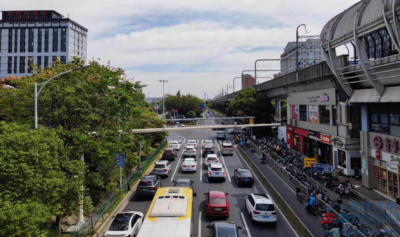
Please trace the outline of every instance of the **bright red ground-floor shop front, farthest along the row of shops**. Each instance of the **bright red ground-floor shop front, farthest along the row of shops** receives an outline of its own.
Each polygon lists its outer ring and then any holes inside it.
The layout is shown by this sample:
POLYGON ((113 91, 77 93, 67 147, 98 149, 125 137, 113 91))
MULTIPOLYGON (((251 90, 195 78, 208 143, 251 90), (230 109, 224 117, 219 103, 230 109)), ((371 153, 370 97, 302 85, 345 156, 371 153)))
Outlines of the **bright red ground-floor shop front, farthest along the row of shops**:
POLYGON ((290 148, 308 156, 308 131, 298 127, 286 125, 286 141, 290 148))

